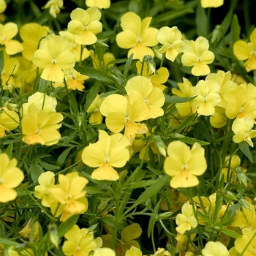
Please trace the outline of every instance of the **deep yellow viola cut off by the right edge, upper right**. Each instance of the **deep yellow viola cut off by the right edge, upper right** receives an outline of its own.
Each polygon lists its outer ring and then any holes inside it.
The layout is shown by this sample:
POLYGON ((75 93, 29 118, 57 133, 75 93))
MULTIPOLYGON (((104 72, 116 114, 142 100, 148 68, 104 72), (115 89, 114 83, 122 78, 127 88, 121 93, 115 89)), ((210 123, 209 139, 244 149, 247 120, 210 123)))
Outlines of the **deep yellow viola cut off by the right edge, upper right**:
POLYGON ((250 42, 238 40, 233 45, 233 52, 239 61, 247 61, 244 63, 246 71, 256 70, 256 29, 250 35, 250 42))

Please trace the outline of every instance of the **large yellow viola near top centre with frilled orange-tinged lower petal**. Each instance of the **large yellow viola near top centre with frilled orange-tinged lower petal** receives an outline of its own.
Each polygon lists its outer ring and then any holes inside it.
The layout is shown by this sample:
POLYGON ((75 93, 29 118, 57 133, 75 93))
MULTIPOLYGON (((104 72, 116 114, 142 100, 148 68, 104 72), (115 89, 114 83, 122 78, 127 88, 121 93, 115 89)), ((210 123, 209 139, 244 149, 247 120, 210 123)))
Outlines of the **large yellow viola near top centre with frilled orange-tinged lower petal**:
POLYGON ((121 17, 121 28, 124 30, 116 35, 116 43, 120 48, 130 49, 128 57, 133 53, 133 59, 151 55, 154 51, 149 47, 157 45, 156 35, 158 29, 149 27, 152 17, 142 21, 135 12, 127 12, 121 17))

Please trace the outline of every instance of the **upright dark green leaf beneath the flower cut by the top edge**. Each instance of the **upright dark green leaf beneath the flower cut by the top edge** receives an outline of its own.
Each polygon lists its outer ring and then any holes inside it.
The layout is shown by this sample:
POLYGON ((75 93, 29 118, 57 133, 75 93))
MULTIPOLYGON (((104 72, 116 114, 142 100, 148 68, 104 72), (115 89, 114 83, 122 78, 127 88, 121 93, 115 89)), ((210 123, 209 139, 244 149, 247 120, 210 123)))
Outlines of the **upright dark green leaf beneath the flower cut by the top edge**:
POLYGON ((201 7, 200 1, 197 4, 195 12, 195 24, 198 36, 207 37, 208 35, 208 18, 206 10, 201 7))

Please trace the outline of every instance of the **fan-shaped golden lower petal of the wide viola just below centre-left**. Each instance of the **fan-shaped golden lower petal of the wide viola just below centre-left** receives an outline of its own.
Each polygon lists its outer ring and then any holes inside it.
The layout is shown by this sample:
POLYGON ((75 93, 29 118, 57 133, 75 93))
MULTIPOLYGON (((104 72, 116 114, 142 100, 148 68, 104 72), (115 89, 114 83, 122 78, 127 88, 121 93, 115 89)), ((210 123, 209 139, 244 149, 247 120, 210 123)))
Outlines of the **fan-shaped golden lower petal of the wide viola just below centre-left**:
POLYGON ((119 178, 118 172, 109 164, 105 163, 91 173, 91 178, 99 181, 117 181, 119 178))

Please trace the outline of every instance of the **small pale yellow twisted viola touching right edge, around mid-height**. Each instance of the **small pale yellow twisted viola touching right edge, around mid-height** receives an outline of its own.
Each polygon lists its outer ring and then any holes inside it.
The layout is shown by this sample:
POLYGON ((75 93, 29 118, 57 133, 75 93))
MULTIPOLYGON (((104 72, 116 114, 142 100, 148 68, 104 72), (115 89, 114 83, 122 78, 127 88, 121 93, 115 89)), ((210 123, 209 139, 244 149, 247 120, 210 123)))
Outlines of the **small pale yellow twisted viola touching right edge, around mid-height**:
POLYGON ((256 130, 252 129, 254 126, 252 119, 243 117, 236 119, 232 124, 232 130, 235 133, 233 140, 235 143, 246 141, 249 146, 253 147, 252 138, 256 137, 256 130))

